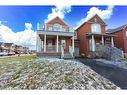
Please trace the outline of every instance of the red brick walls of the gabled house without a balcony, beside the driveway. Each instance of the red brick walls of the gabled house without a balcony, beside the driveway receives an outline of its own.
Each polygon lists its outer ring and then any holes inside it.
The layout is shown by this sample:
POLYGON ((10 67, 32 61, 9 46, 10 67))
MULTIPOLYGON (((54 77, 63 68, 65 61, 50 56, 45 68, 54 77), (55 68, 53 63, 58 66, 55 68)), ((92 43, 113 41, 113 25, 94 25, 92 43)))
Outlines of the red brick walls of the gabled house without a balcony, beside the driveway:
MULTIPOLYGON (((91 32, 91 24, 93 23, 98 23, 101 25, 101 33, 106 34, 105 31, 105 26, 106 24, 102 21, 102 19, 98 16, 95 15, 92 17, 90 20, 87 22, 83 23, 78 29, 76 29, 77 32, 77 39, 80 40, 80 55, 85 54, 85 56, 88 55, 89 52, 89 39, 86 37, 86 33, 91 32), (96 18, 96 22, 95 19, 96 18)), ((100 39, 96 39, 96 42, 100 41, 100 39)))

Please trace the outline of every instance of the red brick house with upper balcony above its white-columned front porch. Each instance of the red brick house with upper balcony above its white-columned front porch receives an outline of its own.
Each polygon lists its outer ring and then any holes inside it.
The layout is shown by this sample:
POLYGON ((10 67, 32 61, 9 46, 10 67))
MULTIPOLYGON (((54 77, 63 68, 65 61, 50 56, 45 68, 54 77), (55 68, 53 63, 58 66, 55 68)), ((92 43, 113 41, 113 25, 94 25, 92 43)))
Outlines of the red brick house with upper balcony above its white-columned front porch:
POLYGON ((37 56, 73 57, 74 30, 56 17, 37 29, 37 56))

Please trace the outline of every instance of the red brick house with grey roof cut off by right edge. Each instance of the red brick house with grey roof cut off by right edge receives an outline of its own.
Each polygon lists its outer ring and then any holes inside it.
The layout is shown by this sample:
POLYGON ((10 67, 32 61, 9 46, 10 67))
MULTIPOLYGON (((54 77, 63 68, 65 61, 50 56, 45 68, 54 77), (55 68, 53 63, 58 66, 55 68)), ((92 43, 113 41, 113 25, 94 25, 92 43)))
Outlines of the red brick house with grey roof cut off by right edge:
POLYGON ((114 38, 115 46, 127 53, 127 24, 114 29, 108 29, 107 32, 117 36, 114 38))

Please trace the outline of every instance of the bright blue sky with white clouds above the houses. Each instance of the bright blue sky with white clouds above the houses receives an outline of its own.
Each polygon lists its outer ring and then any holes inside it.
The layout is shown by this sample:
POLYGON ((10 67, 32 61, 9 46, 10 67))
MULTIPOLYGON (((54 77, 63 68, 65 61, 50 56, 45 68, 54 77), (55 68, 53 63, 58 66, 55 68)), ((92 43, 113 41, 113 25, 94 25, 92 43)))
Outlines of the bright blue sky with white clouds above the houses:
POLYGON ((36 49, 37 23, 59 16, 76 28, 95 14, 107 29, 127 24, 127 6, 0 6, 0 41, 36 49))

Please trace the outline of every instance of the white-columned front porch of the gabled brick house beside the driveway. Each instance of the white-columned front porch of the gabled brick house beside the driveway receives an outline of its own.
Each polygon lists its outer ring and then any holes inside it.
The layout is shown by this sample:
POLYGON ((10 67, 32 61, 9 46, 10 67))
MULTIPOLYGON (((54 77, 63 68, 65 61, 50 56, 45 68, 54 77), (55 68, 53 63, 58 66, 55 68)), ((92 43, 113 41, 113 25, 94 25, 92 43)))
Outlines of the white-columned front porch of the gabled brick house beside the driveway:
POLYGON ((99 57, 102 54, 102 48, 114 47, 114 37, 115 35, 107 35, 107 34, 93 34, 87 33, 88 39, 88 57, 99 57))

